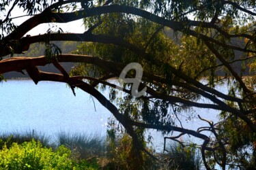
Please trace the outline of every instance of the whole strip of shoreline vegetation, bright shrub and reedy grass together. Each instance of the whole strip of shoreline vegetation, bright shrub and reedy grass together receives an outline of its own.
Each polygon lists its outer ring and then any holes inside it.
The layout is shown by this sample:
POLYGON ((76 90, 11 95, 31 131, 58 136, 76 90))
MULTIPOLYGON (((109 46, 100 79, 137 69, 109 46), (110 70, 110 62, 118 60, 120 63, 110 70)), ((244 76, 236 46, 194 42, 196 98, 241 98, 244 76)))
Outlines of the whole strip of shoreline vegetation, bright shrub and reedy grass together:
POLYGON ((55 139, 34 132, 0 135, 0 169, 200 169, 199 150, 170 143, 168 152, 147 151, 133 165, 132 139, 128 135, 99 137, 59 133, 55 139), (156 160, 157 158, 158 160, 156 160))

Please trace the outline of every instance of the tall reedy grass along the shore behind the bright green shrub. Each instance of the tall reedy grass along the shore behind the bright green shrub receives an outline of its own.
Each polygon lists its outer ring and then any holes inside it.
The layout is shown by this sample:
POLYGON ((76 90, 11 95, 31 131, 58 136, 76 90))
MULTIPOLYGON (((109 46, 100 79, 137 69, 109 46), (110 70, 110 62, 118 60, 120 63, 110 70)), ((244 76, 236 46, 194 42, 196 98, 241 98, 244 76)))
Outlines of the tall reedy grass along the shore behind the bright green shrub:
MULTIPOLYGON (((100 169, 129 169, 128 148, 131 143, 129 137, 119 137, 111 143, 107 137, 97 134, 60 132, 53 140, 44 133, 16 131, 12 134, 0 134, 0 150, 3 149, 5 143, 7 147, 10 147, 14 142, 21 144, 25 141, 32 141, 32 139, 40 141, 43 147, 53 148, 54 151, 57 151, 60 146, 65 146, 71 151, 72 160, 75 160, 77 163, 83 162, 83 160, 86 160, 88 163, 95 163, 96 161, 100 169)), ((170 143, 167 150, 169 152, 156 155, 162 160, 161 162, 147 159, 149 161, 145 163, 145 167, 147 169, 201 168, 202 163, 199 150, 191 151, 188 148, 182 148, 178 143, 170 143)))

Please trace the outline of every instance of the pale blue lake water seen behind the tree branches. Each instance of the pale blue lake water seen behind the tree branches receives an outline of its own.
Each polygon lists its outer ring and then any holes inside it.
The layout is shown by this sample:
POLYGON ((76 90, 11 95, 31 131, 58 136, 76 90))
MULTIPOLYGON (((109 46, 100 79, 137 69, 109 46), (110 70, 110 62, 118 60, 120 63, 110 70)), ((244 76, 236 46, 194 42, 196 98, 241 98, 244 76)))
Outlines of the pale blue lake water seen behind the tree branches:
MULTIPOLYGON (((72 90, 59 82, 39 82, 38 85, 31 80, 3 82, 0 84, 0 133, 34 130, 51 137, 63 131, 106 135, 111 113, 82 90, 75 92, 74 97, 72 90)), ((107 92, 104 95, 107 97, 107 92)), ((217 119, 217 113, 210 109, 196 109, 194 114, 217 119)), ((197 117, 181 116, 180 119, 184 128, 196 130, 199 126, 208 126, 197 117)), ((154 137, 156 150, 162 150, 162 135, 156 131, 148 133, 154 137)), ((187 136, 188 139, 195 140, 187 136)))

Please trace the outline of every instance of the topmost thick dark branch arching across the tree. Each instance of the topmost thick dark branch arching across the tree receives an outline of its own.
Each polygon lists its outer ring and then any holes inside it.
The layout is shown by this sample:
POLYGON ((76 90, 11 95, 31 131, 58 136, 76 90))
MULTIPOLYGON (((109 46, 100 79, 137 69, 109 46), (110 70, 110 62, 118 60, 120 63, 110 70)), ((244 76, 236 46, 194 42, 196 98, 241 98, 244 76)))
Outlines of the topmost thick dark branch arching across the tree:
POLYGON ((45 10, 41 14, 33 16, 29 18, 29 20, 23 22, 23 24, 20 24, 20 26, 16 29, 16 31, 12 32, 10 35, 5 37, 5 41, 10 41, 12 39, 20 39, 21 37, 23 37, 23 35, 25 35, 25 33, 27 33, 28 31, 30 31, 31 29, 33 29, 34 27, 42 23, 49 23, 49 22, 66 23, 74 20, 79 20, 81 18, 87 18, 90 16, 99 16, 100 14, 109 14, 109 13, 134 14, 134 15, 146 18, 148 20, 151 20, 152 22, 162 24, 163 26, 169 27, 176 31, 184 32, 184 30, 186 30, 186 33, 188 33, 189 35, 193 35, 194 37, 199 37, 201 39, 211 41, 214 44, 219 44, 221 46, 225 46, 233 50, 240 50, 242 52, 254 52, 253 50, 246 50, 238 46, 230 46, 228 44, 223 44, 221 41, 218 41, 216 39, 213 39, 201 33, 197 33, 191 29, 186 29, 186 27, 205 27, 205 28, 219 29, 218 27, 214 26, 214 24, 210 22, 199 22, 195 20, 178 22, 173 20, 167 20, 165 18, 156 16, 145 10, 141 10, 137 7, 130 7, 126 5, 106 5, 106 6, 88 8, 85 11, 81 10, 77 12, 67 12, 67 13, 56 13, 56 12, 51 12, 51 10, 45 10))

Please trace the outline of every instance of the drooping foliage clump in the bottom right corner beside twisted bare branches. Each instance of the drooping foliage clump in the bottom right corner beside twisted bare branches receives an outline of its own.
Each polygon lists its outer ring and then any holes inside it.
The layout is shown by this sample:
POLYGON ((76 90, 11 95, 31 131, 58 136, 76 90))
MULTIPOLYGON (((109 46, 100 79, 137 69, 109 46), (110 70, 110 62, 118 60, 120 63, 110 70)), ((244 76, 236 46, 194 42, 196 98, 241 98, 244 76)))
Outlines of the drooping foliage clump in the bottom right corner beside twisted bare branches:
MULTIPOLYGON (((243 122, 237 116, 223 112, 221 114, 221 124, 217 128, 220 129, 220 139, 229 141, 227 148, 229 156, 228 161, 232 164, 231 168, 236 168, 236 163, 244 169, 250 169, 256 165, 255 150, 255 133, 251 133, 248 124, 243 122)), ((210 153, 209 153, 210 154, 210 153)))

